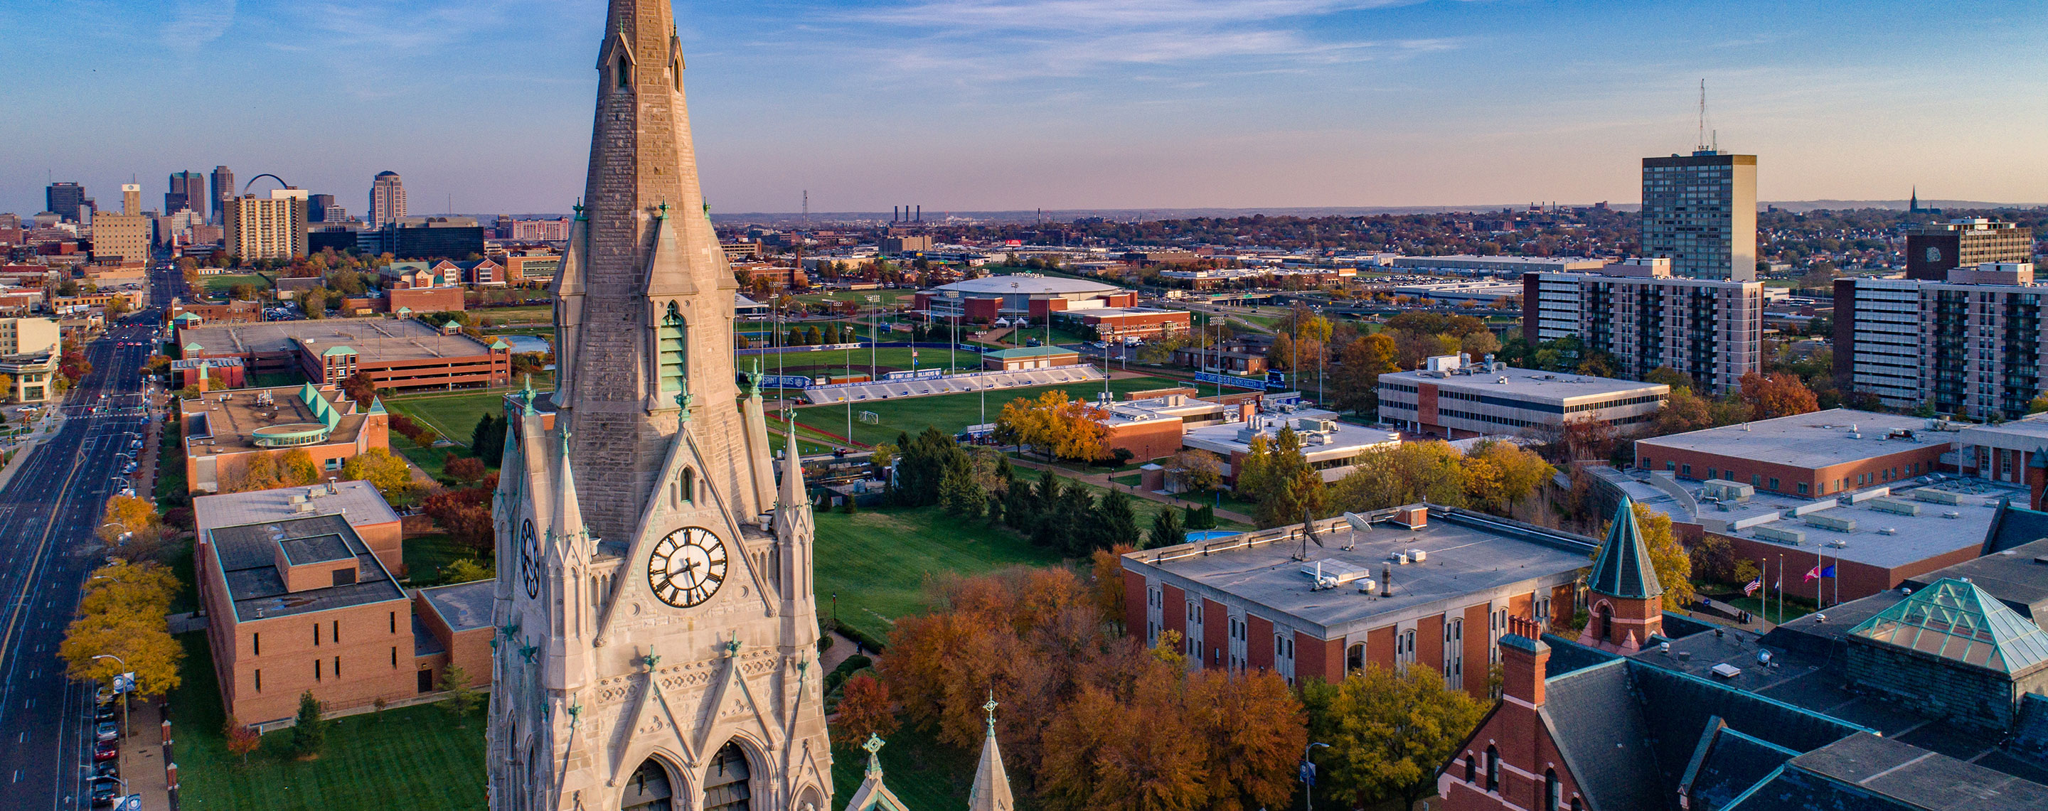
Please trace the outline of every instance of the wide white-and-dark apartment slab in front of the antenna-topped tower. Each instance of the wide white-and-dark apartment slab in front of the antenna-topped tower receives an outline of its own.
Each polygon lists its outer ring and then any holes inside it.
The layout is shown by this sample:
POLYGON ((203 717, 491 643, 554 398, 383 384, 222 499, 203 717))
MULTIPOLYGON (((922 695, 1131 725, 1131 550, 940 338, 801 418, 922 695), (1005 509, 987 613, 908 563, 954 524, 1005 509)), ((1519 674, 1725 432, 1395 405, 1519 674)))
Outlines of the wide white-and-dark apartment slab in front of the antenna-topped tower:
POLYGON ((1675 279, 1669 258, 1524 274, 1522 338, 1565 336, 1612 356, 1616 377, 1669 367, 1706 391, 1731 391, 1763 371, 1763 283, 1675 279))

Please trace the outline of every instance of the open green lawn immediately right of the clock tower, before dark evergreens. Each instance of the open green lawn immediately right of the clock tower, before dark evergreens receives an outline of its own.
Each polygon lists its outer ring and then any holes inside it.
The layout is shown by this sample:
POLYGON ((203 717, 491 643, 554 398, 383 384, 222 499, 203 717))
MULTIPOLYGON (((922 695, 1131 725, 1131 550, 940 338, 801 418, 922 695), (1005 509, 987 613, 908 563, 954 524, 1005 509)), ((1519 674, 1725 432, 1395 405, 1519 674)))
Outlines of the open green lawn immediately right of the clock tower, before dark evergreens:
POLYGON ((924 582, 1006 565, 1057 565, 1059 555, 979 520, 956 520, 936 506, 817 514, 817 608, 874 639, 897 616, 926 606, 924 582))

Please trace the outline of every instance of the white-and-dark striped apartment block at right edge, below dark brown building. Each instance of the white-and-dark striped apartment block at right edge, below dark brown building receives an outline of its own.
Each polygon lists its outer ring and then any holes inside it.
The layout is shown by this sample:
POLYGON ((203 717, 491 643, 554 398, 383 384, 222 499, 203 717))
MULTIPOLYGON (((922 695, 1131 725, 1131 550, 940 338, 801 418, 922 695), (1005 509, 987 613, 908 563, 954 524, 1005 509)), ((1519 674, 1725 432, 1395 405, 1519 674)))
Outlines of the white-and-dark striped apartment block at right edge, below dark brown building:
POLYGON ((2034 264, 1944 281, 1835 279, 1835 381, 1886 408, 2015 420, 2042 395, 2048 307, 2034 264))

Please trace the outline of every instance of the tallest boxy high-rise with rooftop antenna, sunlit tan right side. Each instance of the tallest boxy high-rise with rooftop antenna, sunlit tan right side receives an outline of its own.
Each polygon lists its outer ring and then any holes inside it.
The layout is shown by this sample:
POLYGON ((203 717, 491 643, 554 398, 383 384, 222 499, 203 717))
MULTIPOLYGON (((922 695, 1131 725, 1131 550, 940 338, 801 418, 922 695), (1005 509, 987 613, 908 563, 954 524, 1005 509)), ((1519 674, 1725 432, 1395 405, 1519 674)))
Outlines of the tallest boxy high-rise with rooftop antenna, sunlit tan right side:
POLYGON ((1683 279, 1757 279, 1757 156, 1642 158, 1642 256, 1683 279))

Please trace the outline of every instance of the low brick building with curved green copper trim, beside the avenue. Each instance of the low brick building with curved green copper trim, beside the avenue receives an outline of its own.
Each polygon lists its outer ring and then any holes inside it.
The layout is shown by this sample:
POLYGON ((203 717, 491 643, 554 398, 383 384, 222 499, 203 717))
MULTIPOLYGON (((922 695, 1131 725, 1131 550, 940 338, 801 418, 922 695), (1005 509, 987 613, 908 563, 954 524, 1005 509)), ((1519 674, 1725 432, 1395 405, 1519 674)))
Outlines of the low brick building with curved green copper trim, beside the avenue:
POLYGON ((223 483, 231 487, 256 455, 305 451, 322 477, 334 477, 348 459, 391 449, 391 418, 381 401, 354 403, 334 387, 311 383, 227 391, 201 385, 197 399, 178 401, 178 420, 190 494, 219 492, 223 483))

